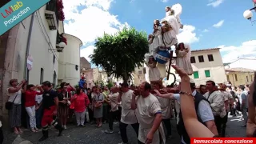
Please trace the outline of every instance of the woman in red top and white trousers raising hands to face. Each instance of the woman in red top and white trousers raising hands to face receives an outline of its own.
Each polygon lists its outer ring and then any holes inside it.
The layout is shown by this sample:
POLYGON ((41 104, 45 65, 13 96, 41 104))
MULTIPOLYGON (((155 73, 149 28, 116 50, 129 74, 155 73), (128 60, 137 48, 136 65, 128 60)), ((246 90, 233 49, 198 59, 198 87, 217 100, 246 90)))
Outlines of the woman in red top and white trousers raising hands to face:
POLYGON ((25 92, 25 108, 26 113, 30 116, 30 128, 33 132, 36 132, 38 128, 36 127, 36 119, 35 119, 35 96, 38 94, 42 94, 42 87, 34 86, 34 85, 28 85, 26 87, 25 92), (40 90, 41 92, 36 91, 35 89, 40 90))

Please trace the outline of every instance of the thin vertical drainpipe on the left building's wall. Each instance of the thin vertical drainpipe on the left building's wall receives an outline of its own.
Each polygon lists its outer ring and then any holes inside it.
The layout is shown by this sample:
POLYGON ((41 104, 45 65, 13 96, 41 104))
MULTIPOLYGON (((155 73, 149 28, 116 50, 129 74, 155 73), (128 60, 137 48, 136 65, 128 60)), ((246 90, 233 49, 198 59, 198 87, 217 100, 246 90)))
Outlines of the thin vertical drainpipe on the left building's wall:
POLYGON ((30 30, 29 30, 29 36, 27 38, 27 42, 26 42, 26 58, 25 58, 25 64, 24 64, 24 79, 26 79, 27 82, 29 82, 30 80, 30 70, 27 70, 27 57, 30 54, 30 43, 31 43, 31 35, 32 35, 32 30, 33 30, 33 24, 34 24, 34 13, 31 14, 31 21, 30 21, 30 30))

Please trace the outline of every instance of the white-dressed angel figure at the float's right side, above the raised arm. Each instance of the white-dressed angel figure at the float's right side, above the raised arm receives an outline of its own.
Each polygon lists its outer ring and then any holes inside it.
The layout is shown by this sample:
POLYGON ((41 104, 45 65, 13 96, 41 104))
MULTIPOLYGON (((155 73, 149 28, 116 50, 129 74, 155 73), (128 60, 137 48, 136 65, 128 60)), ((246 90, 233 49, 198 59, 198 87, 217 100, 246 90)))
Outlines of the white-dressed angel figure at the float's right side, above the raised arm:
POLYGON ((186 74, 193 74, 193 69, 190 63, 191 50, 190 45, 179 43, 176 50, 176 65, 186 71, 186 74))

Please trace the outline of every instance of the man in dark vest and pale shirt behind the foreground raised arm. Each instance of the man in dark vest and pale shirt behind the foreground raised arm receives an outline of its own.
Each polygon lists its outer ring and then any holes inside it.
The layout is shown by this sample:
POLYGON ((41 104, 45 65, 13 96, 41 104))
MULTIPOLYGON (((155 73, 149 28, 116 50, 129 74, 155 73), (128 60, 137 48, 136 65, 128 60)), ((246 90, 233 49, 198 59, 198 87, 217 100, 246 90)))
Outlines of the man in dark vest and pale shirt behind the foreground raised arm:
MULTIPOLYGON (((180 80, 177 81, 181 82, 180 80)), ((214 122, 214 115, 210 108, 210 103, 202 94, 195 90, 196 86, 193 79, 190 79, 190 88, 193 91, 192 95, 194 96, 194 107, 198 115, 198 121, 202 122, 202 124, 207 126, 209 130, 211 130, 214 134, 218 135, 218 130, 214 122)), ((180 102, 180 94, 160 94, 157 90, 155 91, 158 93, 159 97, 177 99, 178 102, 180 102)), ((179 113, 179 122, 177 129, 178 133, 182 135, 182 143, 190 143, 190 137, 186 133, 186 128, 182 119, 182 112, 179 113)))

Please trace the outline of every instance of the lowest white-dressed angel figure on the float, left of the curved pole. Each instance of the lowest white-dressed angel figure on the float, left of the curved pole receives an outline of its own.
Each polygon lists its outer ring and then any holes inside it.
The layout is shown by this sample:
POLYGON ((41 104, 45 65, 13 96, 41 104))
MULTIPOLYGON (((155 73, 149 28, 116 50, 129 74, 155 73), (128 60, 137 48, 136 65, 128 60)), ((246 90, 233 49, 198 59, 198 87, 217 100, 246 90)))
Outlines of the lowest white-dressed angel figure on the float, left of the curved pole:
POLYGON ((160 70, 157 67, 157 62, 150 54, 145 54, 145 63, 149 67, 149 81, 150 83, 162 82, 160 70))

